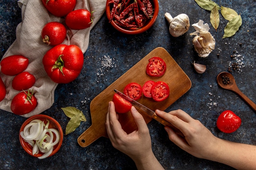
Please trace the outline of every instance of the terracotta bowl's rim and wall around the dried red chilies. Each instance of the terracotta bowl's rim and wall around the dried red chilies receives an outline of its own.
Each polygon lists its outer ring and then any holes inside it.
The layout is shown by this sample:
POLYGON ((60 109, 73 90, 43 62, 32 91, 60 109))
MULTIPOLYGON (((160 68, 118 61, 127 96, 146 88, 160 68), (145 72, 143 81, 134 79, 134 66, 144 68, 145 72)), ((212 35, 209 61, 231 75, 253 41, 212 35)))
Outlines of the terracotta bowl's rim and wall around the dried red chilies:
MULTIPOLYGON (((110 20, 110 15, 111 15, 112 7, 113 7, 113 3, 109 3, 110 1, 113 1, 113 0, 107 0, 107 3, 106 3, 106 15, 108 17, 108 20, 110 20)), ((133 2, 133 0, 131 0, 131 2, 133 2)), ((159 11, 158 1, 157 0, 150 0, 150 2, 152 3, 152 6, 153 6, 153 12, 154 12, 153 17, 151 19, 148 19, 146 21, 146 23, 141 28, 136 29, 136 30, 130 30, 130 29, 127 29, 126 27, 119 26, 119 24, 117 24, 114 21, 114 19, 110 22, 110 24, 115 29, 120 31, 121 33, 139 34, 139 33, 145 32, 146 30, 148 30, 155 23, 155 21, 157 19, 158 11, 159 11)))

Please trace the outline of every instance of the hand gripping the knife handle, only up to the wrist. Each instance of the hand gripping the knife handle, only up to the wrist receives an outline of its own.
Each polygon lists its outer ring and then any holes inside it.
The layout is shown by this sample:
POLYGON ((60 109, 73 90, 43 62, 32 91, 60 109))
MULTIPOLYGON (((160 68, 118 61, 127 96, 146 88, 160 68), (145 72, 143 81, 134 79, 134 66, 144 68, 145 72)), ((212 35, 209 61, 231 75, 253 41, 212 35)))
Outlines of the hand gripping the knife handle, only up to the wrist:
POLYGON ((156 110, 156 114, 180 129, 184 137, 176 134, 169 126, 165 126, 169 139, 191 155, 207 159, 218 147, 216 141, 219 139, 200 121, 193 119, 183 110, 173 110, 169 113, 156 110))

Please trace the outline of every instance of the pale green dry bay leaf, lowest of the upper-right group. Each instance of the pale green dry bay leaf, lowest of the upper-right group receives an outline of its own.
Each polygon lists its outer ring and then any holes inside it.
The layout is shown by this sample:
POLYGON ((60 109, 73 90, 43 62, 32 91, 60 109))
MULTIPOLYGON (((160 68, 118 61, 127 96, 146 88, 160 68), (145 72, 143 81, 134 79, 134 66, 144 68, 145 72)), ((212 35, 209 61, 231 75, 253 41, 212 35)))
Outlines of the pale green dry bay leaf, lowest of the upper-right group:
POLYGON ((234 35, 236 31, 238 31, 241 25, 242 25, 241 15, 237 15, 227 23, 227 26, 224 29, 224 35, 222 38, 227 38, 234 35))

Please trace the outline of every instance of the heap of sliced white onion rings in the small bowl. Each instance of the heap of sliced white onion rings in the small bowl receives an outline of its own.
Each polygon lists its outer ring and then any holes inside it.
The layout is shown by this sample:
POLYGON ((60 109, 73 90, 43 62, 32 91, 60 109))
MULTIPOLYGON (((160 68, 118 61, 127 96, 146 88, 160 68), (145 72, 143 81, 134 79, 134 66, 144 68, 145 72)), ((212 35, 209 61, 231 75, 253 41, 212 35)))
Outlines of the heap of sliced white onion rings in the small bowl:
POLYGON ((60 140, 60 133, 54 128, 49 129, 49 123, 49 120, 47 120, 47 124, 44 124, 43 121, 34 119, 20 132, 20 136, 33 147, 33 155, 38 154, 39 151, 44 153, 38 159, 44 159, 51 155, 53 147, 60 140), (53 133, 56 136, 55 141, 53 141, 53 133))

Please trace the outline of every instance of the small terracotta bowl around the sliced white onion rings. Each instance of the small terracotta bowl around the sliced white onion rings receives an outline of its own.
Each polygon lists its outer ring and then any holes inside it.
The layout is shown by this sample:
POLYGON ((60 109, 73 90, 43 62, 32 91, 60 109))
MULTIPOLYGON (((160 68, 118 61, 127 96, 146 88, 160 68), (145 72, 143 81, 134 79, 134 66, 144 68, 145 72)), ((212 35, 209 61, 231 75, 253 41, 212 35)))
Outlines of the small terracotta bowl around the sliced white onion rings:
MULTIPOLYGON (((39 119, 41 121, 44 121, 45 124, 47 124, 47 120, 50 121, 49 123, 49 127, 48 128, 55 128, 58 130, 58 132, 60 133, 60 140, 58 142, 58 144, 56 144, 54 147, 53 147, 53 151, 51 153, 50 156, 54 155, 56 152, 58 152, 58 150, 61 148, 61 144, 62 144, 62 141, 63 141, 63 131, 62 131, 62 128, 61 128, 61 125, 58 123, 58 121, 56 121, 54 118, 52 117, 49 117, 47 115, 34 115, 34 116, 31 116, 29 117, 21 126, 20 128, 20 132, 24 130, 25 126, 27 124, 29 124, 30 121, 34 120, 34 119, 39 119)), ((54 133, 53 133, 54 134, 54 133)), ((31 156, 33 157, 40 157, 42 156, 44 153, 40 152, 36 155, 33 155, 32 154, 32 150, 33 150, 33 147, 27 143, 21 136, 20 136, 20 133, 19 133, 19 138, 20 138, 20 144, 22 146, 22 148, 31 156)), ((56 139, 56 136, 54 134, 54 139, 53 141, 55 141, 56 139)))

